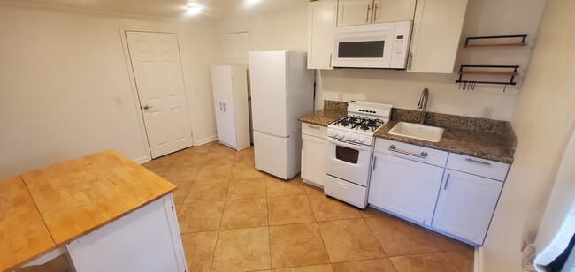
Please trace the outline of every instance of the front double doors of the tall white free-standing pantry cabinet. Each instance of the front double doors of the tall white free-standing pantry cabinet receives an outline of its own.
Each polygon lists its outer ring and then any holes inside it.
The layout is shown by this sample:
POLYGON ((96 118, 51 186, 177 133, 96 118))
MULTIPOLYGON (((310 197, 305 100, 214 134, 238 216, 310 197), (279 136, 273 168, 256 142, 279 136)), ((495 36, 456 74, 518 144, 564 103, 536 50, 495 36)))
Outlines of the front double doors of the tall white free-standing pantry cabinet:
POLYGON ((218 140, 235 147, 234 90, 231 66, 211 68, 218 140))

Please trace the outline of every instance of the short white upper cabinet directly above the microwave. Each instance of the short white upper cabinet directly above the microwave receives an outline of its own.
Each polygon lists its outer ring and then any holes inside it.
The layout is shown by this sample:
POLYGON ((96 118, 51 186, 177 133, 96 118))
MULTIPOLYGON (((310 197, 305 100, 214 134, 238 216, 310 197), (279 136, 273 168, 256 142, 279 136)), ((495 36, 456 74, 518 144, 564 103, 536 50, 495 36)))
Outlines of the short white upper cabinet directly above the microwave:
POLYGON ((416 0, 339 0, 337 26, 412 20, 416 0))

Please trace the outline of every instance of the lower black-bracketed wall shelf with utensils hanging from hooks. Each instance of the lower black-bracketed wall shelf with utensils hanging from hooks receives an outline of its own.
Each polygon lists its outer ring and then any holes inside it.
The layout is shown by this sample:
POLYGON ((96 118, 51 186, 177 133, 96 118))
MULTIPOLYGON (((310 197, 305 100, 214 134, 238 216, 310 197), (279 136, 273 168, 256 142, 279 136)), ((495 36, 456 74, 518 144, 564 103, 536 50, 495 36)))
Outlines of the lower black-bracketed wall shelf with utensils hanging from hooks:
POLYGON ((456 80, 456 83, 459 83, 459 89, 468 89, 474 90, 475 84, 496 84, 496 85, 504 85, 503 92, 507 89, 508 85, 515 86, 517 82, 513 81, 517 76, 517 70, 519 69, 519 65, 461 65, 459 68, 459 79, 456 80), (507 71, 504 72, 481 72, 475 71, 470 72, 469 70, 464 70, 464 68, 489 68, 489 69, 506 69, 507 71), (511 72, 512 71, 512 72, 511 72), (464 75, 491 75, 491 76, 509 76, 509 81, 478 81, 478 80, 464 80, 464 75))

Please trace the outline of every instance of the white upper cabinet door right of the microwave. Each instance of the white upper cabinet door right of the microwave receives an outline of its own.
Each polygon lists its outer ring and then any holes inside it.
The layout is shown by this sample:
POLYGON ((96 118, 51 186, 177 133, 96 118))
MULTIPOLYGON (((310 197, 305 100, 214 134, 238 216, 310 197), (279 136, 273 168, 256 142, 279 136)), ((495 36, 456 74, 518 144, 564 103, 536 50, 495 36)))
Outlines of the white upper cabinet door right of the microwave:
POLYGON ((467 0, 418 0, 408 72, 452 73, 467 0))

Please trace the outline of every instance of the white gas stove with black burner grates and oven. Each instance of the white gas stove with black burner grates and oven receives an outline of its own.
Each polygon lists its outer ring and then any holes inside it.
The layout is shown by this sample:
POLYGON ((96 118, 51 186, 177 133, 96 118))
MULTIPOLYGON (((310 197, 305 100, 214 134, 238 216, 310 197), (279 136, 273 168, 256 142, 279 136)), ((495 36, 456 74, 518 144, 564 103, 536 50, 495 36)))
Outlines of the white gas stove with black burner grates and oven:
POLYGON ((359 208, 367 206, 373 133, 389 121, 392 108, 352 101, 348 116, 327 126, 324 193, 359 208))

